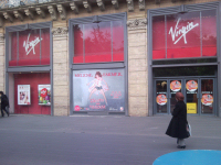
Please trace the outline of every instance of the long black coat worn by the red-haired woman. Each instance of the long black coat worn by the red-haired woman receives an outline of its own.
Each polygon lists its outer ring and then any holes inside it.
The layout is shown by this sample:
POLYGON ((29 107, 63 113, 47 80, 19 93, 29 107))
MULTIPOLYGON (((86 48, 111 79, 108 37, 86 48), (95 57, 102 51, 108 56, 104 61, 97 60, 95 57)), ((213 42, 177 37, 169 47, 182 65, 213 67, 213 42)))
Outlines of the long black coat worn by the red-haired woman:
POLYGON ((187 139, 187 107, 183 101, 178 101, 172 112, 172 119, 169 123, 166 134, 171 138, 187 139))

